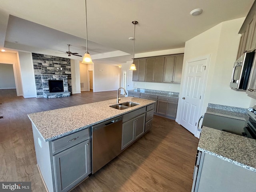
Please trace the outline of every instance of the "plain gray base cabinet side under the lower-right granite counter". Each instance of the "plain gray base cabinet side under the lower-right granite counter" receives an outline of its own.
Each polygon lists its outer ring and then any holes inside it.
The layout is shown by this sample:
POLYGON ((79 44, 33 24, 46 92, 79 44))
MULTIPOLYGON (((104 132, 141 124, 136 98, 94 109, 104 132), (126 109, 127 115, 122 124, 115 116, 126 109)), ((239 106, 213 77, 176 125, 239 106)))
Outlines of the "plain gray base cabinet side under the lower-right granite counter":
POLYGON ((252 192, 255 180, 256 172, 200 152, 191 192, 252 192))

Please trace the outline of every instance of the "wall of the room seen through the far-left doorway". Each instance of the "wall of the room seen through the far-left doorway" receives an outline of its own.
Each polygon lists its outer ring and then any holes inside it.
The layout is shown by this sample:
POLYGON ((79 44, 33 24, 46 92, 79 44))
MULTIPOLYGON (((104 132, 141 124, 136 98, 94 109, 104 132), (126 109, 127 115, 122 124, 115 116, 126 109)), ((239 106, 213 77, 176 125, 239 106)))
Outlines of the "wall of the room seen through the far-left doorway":
POLYGON ((0 89, 16 89, 12 64, 0 63, 0 89))

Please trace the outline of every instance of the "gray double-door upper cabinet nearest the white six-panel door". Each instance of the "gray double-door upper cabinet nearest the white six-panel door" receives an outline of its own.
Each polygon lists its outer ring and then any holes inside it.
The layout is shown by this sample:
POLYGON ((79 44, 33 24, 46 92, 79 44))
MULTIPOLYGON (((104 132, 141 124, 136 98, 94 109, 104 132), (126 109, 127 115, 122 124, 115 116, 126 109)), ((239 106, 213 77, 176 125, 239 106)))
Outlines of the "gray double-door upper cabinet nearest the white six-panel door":
POLYGON ((164 74, 162 82, 180 83, 184 55, 167 56, 164 59, 164 74))

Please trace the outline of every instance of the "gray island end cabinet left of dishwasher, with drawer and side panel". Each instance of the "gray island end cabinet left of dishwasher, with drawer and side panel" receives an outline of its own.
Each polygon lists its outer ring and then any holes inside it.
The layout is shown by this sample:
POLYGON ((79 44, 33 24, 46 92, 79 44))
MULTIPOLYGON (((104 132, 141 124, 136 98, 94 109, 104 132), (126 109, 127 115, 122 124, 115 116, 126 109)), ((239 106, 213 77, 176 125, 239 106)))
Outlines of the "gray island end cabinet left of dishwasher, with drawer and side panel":
POLYGON ((90 132, 44 142, 32 123, 36 160, 48 192, 68 192, 91 173, 90 132))

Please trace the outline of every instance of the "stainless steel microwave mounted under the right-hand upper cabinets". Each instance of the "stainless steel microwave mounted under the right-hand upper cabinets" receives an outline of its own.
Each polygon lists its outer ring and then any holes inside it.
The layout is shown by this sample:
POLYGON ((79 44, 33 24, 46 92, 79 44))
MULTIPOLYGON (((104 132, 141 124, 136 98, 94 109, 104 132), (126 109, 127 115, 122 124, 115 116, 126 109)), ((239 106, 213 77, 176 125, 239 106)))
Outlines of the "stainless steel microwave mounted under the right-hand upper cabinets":
POLYGON ((245 52, 234 63, 233 72, 230 80, 230 87, 236 91, 246 91, 255 50, 245 52))

